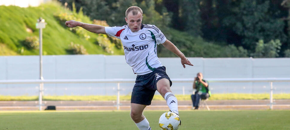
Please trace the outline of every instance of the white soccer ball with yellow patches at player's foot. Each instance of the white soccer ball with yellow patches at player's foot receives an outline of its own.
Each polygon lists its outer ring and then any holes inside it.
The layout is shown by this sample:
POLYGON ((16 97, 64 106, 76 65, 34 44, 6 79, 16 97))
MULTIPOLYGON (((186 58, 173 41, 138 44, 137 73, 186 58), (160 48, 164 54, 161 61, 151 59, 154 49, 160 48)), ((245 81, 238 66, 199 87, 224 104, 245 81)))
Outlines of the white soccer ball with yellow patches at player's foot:
POLYGON ((159 118, 159 126, 161 130, 177 130, 179 124, 179 116, 173 112, 165 112, 159 118))

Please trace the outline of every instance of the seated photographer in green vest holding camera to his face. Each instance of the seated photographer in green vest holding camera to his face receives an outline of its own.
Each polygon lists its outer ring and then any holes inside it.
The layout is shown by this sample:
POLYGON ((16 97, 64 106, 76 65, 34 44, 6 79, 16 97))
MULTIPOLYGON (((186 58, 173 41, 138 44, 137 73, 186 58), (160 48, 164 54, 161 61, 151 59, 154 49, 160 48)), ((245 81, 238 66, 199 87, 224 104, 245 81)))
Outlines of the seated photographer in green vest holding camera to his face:
POLYGON ((193 103, 193 109, 199 109, 199 100, 207 99, 210 97, 210 91, 208 89, 208 83, 203 79, 202 73, 197 73, 197 76, 193 81, 193 89, 196 89, 194 94, 191 95, 191 100, 193 103))

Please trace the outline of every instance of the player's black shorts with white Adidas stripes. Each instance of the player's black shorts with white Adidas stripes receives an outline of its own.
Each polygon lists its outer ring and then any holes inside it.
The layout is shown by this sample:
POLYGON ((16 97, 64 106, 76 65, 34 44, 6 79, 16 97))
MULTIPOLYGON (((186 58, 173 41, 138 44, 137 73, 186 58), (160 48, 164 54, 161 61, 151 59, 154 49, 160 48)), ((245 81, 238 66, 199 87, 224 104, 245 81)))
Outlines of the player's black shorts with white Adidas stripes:
POLYGON ((163 78, 168 79, 170 86, 172 85, 164 66, 156 68, 151 73, 138 75, 132 90, 131 103, 150 105, 157 90, 157 82, 163 78))

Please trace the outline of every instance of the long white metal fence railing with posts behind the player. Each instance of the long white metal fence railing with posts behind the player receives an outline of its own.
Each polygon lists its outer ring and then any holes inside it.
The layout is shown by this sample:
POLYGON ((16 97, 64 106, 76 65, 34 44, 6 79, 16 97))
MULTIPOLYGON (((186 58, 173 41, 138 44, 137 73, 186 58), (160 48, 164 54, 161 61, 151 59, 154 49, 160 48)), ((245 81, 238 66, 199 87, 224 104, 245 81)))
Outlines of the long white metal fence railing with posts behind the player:
MULTIPOLYGON (((171 79, 172 82, 193 82, 193 79, 171 79)), ((290 82, 290 78, 232 78, 207 79, 208 82, 269 82, 270 109, 273 109, 273 82, 290 82)), ((30 79, 30 80, 0 80, 0 84, 54 84, 54 83, 117 83, 117 109, 120 109, 120 83, 133 83, 135 79, 30 79)), ((290 84, 289 84, 290 85, 290 84)), ((42 110, 43 88, 39 87, 39 110, 42 110)))

